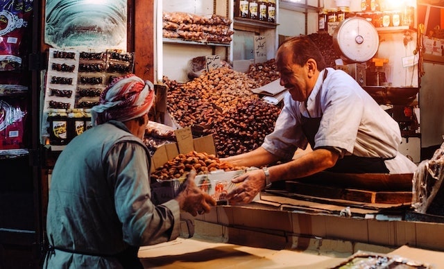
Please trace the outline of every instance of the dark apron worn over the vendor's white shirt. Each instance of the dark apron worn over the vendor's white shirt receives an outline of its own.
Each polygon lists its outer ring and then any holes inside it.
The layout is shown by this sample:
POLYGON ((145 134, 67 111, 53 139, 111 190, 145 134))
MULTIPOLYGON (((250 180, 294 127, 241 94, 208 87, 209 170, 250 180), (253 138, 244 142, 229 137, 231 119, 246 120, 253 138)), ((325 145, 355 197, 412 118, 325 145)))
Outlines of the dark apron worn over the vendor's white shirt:
MULTIPOLYGON (((327 69, 325 69, 323 80, 327 77, 327 69)), ((322 86, 321 86, 322 87, 322 86)), ((319 94, 318 94, 319 96, 319 94)), ((316 102, 320 103, 320 97, 316 96, 316 102)), ((305 102, 307 105, 307 102, 305 102)), ((308 111, 308 110, 307 110, 308 111)), ((314 137, 318 132, 321 118, 307 118, 302 116, 302 132, 311 146, 316 147, 314 137)), ((355 155, 345 155, 339 158, 332 168, 326 171, 337 173, 389 173, 384 158, 381 157, 358 157, 355 155)))

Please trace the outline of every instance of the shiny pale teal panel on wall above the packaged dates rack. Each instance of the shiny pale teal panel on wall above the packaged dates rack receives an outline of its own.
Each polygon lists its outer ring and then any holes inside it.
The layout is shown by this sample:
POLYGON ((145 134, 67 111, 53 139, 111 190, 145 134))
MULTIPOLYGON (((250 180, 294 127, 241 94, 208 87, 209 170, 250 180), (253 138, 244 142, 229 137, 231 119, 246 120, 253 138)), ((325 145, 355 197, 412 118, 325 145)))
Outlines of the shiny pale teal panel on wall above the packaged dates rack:
POLYGON ((44 42, 58 49, 126 50, 127 19, 127 0, 46 0, 44 42))

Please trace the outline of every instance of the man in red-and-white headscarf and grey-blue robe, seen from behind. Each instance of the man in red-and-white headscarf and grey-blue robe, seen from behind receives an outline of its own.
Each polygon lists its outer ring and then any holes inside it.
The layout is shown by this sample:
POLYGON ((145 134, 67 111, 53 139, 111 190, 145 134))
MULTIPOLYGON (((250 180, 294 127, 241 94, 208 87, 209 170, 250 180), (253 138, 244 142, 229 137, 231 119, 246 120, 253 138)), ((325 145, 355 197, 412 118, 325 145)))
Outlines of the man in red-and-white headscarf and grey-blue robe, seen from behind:
POLYGON ((74 138, 54 166, 44 268, 143 268, 140 245, 179 236, 180 209, 193 216, 216 202, 194 184, 162 205, 151 202, 150 157, 144 145, 153 85, 115 79, 92 108, 96 125, 74 138))

